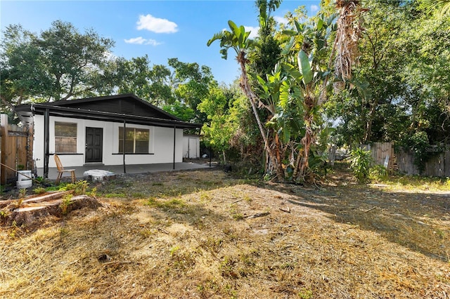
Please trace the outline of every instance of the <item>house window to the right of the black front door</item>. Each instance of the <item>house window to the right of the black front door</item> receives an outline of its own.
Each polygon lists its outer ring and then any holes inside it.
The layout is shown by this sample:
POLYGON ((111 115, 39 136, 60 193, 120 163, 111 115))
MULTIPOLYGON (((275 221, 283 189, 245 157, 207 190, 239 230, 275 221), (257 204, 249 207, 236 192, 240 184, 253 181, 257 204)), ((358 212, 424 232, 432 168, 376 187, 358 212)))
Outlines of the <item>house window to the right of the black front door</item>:
POLYGON ((119 127, 119 152, 126 154, 148 154, 148 144, 150 141, 150 130, 146 128, 125 128, 119 127))

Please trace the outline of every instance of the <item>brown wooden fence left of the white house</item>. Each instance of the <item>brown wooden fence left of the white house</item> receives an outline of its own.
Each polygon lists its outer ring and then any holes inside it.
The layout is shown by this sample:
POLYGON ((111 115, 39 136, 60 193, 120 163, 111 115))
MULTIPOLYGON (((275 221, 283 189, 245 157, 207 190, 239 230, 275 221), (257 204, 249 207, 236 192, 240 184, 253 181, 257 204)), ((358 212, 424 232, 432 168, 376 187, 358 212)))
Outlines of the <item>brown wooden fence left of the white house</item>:
MULTIPOLYGON (((32 170, 32 127, 20 127, 8 124, 8 116, 0 115, 0 156, 1 163, 16 170, 32 170)), ((0 183, 5 185, 14 182, 17 173, 10 169, 0 167, 0 183)))

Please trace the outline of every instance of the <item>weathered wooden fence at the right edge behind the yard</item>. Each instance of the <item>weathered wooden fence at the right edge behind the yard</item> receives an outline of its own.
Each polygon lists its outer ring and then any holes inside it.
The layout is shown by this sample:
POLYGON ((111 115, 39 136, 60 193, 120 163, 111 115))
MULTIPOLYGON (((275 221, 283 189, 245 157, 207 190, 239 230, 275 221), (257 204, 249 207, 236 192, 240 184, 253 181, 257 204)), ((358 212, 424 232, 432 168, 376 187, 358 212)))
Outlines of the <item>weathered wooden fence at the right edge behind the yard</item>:
POLYGON ((417 166, 414 165, 414 154, 405 150, 395 153, 392 142, 374 142, 371 145, 364 145, 364 148, 371 150, 375 164, 386 166, 387 163, 389 169, 409 175, 450 177, 450 145, 430 146, 428 151, 435 154, 426 161, 423 173, 419 173, 417 166))

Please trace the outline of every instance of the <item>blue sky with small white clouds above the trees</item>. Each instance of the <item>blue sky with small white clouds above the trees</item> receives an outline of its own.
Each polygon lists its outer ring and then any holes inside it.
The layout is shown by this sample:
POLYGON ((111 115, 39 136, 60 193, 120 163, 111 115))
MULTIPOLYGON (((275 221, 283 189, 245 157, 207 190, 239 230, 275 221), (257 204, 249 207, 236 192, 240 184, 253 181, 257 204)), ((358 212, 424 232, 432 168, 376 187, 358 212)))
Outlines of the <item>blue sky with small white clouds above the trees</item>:
MULTIPOLYGON (((304 5, 315 15, 320 0, 284 0, 274 13, 283 18, 304 5)), ((214 33, 228 28, 228 20, 257 32, 253 0, 241 1, 5 1, 0 0, 0 25, 20 24, 31 32, 49 29, 54 20, 71 22, 84 32, 92 28, 115 41, 113 55, 127 59, 148 55, 154 65, 168 58, 197 62, 212 69, 219 82, 231 83, 239 75, 232 53, 221 59, 219 43, 206 46, 214 33)))

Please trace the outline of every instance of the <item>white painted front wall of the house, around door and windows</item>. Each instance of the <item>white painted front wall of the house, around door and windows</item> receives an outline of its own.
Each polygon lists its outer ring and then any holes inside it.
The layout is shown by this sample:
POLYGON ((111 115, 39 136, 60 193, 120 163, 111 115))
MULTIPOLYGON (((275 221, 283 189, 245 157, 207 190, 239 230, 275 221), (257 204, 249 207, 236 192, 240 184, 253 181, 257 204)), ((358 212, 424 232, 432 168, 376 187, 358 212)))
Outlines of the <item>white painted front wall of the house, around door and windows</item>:
MULTIPOLYGON (((122 165, 123 154, 119 154, 119 127, 121 123, 108 121, 92 121, 89 119, 72 119, 65 117, 50 117, 49 152, 55 153, 55 121, 77 124, 77 153, 58 154, 64 167, 83 166, 85 164, 86 127, 103 128, 103 161, 105 165, 122 165)), ((158 164, 174 161, 174 131, 175 131, 175 162, 183 161, 183 129, 163 128, 157 126, 142 126, 127 124, 127 128, 146 128, 150 133, 148 145, 149 154, 125 154, 126 164, 158 164)), ((44 167, 44 116, 34 116, 34 147, 33 159, 38 168, 44 167)), ((52 157, 49 167, 56 167, 52 157)))

